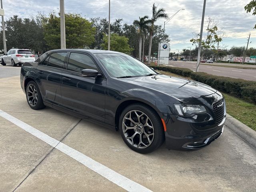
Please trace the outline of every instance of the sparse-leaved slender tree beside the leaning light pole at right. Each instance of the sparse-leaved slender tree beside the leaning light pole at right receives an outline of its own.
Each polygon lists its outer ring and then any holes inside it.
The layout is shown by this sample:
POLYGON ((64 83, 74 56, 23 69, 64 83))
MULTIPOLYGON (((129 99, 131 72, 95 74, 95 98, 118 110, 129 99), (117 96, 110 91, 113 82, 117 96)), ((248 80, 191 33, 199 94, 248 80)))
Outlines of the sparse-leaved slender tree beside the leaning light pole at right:
MULTIPOLYGON (((214 49, 216 47, 216 44, 222 41, 222 38, 224 37, 224 32, 222 29, 219 29, 217 26, 219 24, 218 20, 215 20, 214 18, 208 17, 207 18, 207 33, 206 36, 202 39, 201 42, 201 56, 200 60, 204 57, 204 54, 207 50, 209 49, 214 49)), ((199 47, 199 42, 200 42, 200 33, 196 34, 195 32, 193 33, 193 38, 190 40, 192 44, 196 44, 196 46, 199 47)), ((199 62, 200 64, 200 62, 199 62)), ((196 71, 198 71, 198 66, 196 67, 196 71)))

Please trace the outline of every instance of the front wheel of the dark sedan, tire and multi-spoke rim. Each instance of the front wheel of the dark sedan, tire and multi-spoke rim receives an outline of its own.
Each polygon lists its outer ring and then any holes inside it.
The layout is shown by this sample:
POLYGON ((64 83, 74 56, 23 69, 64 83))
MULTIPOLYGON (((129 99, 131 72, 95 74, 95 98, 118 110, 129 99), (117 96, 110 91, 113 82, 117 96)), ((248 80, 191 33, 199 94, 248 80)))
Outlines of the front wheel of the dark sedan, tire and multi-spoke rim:
POLYGON ((164 142, 164 128, 158 114, 144 104, 132 104, 122 111, 119 130, 125 144, 138 153, 153 152, 164 142))

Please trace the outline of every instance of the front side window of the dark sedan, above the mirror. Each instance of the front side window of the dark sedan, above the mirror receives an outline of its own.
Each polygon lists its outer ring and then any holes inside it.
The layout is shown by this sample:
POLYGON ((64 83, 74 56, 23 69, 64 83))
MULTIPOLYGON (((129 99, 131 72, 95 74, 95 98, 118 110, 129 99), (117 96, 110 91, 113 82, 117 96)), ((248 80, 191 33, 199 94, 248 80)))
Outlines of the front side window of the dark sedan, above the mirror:
POLYGON ((98 70, 93 60, 86 54, 71 53, 68 60, 68 70, 81 72, 83 69, 98 70))

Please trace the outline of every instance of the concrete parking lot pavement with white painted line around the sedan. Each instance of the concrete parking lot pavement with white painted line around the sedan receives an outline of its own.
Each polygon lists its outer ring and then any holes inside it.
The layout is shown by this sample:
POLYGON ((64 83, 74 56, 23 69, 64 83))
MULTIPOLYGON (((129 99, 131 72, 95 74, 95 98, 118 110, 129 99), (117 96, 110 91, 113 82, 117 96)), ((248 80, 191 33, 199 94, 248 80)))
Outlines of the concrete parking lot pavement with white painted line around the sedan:
POLYGON ((1 192, 255 191, 256 149, 228 127, 202 150, 163 145, 138 154, 119 132, 52 108, 32 110, 19 70, 0 66, 1 192))

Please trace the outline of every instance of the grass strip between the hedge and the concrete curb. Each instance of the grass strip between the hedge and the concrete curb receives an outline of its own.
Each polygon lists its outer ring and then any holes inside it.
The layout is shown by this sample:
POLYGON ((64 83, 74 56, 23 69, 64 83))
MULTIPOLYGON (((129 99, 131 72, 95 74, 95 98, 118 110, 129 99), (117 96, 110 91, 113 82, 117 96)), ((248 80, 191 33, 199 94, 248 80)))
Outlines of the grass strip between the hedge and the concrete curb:
MULTIPOLYGON (((158 72, 165 75, 182 77, 170 72, 165 72, 165 71, 158 71, 158 72)), ((227 113, 256 131, 256 104, 246 102, 242 99, 236 98, 229 94, 223 94, 223 95, 226 100, 227 113)))

